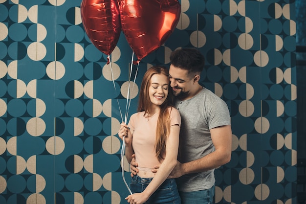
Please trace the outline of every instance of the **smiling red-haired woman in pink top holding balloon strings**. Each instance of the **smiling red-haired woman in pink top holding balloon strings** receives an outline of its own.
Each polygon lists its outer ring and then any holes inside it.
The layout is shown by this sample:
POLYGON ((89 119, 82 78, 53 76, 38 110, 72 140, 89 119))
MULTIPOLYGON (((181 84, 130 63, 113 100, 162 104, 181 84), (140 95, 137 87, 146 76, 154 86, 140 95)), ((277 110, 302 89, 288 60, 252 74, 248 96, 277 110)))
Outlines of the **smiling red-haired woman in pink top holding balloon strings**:
POLYGON ((143 77, 137 113, 129 125, 121 124, 118 135, 125 137, 125 155, 138 163, 138 174, 131 178, 130 204, 180 204, 174 179, 167 179, 176 164, 181 118, 172 107, 168 70, 152 67, 143 77), (151 170, 160 164, 157 173, 151 170))

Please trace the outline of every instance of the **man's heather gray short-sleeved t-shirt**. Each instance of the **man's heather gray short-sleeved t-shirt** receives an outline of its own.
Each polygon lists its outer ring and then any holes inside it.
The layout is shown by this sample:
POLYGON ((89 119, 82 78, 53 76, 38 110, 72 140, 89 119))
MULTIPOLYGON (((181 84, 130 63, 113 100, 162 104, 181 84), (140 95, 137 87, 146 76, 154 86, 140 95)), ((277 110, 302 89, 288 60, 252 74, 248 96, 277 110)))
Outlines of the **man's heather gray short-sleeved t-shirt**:
MULTIPOLYGON (((226 103, 212 91, 203 88, 193 98, 175 101, 182 123, 180 129, 178 161, 185 163, 200 159, 215 151, 210 129, 230 125, 226 103)), ((176 179, 179 191, 209 189, 215 184, 214 169, 192 173, 176 179)))

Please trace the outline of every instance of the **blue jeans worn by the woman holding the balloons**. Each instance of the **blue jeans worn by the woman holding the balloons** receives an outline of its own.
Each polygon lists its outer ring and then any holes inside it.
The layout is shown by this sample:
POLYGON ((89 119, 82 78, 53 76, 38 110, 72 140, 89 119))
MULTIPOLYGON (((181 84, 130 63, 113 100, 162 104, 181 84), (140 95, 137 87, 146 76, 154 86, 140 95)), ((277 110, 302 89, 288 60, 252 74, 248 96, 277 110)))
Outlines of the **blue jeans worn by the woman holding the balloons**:
MULTIPOLYGON (((131 177, 132 193, 141 193, 153 178, 131 177)), ((166 179, 152 194, 145 204, 181 204, 175 179, 166 179)))

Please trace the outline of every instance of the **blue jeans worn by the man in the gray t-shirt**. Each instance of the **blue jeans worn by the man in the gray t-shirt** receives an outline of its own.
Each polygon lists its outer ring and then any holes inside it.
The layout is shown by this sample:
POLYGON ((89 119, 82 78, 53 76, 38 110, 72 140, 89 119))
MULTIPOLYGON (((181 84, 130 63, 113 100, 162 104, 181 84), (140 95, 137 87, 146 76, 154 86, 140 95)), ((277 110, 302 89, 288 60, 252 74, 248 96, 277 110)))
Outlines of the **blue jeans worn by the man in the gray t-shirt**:
POLYGON ((199 190, 192 192, 179 191, 182 204, 213 204, 215 196, 215 185, 207 190, 199 190))

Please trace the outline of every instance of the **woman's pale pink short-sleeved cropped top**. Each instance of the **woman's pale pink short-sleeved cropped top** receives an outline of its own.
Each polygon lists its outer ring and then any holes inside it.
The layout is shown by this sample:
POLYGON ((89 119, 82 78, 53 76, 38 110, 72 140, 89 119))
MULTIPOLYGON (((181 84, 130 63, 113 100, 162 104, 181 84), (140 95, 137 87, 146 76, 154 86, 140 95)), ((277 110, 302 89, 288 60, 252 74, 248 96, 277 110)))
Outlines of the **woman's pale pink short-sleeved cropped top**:
MULTIPOLYGON (((181 117, 175 108, 168 108, 170 112, 170 125, 181 125, 181 117)), ((129 127, 133 133, 132 147, 135 159, 140 170, 151 171, 153 166, 161 164, 156 157, 155 137, 158 114, 149 117, 144 112, 131 115, 129 127)))

